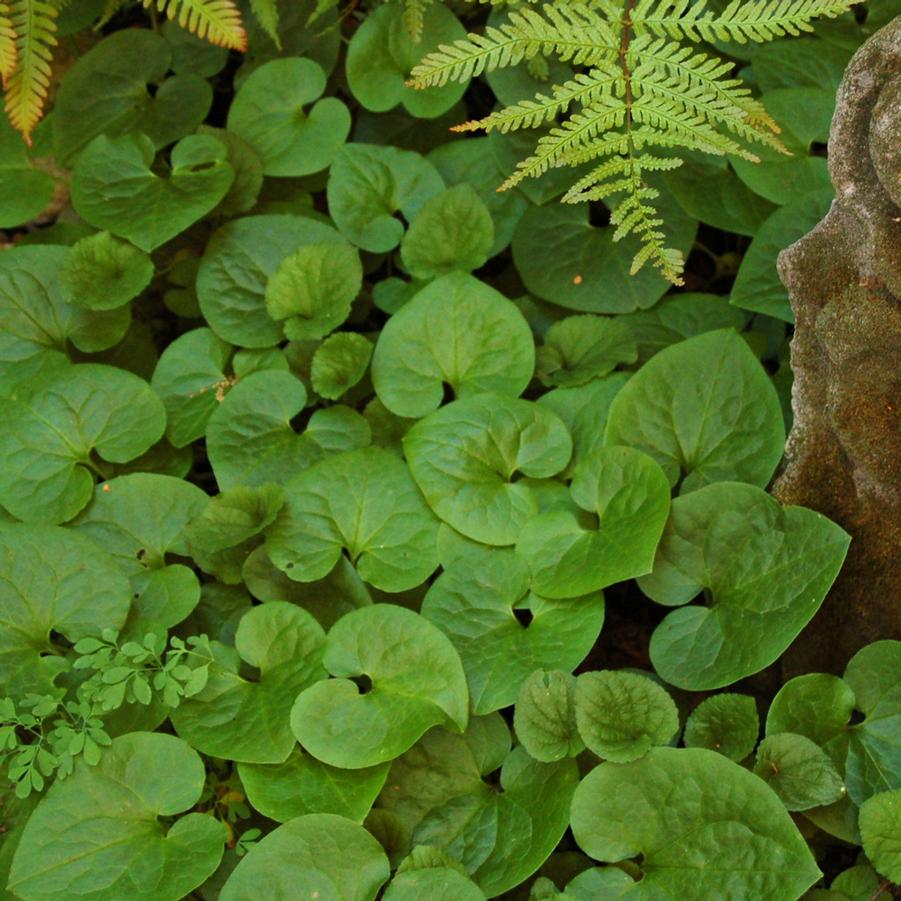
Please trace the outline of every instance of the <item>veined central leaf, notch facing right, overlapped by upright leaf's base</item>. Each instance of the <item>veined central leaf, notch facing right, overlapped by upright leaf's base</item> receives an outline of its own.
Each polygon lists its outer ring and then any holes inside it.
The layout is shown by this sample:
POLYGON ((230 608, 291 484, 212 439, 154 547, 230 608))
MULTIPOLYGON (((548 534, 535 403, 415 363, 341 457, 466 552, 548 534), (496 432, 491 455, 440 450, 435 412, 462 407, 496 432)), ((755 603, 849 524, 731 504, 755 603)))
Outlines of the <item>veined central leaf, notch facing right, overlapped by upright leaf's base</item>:
POLYGON ((518 474, 541 479, 569 462, 572 441, 550 410, 499 394, 454 401, 418 422, 404 451, 429 506, 485 544, 513 544, 538 513, 518 474))

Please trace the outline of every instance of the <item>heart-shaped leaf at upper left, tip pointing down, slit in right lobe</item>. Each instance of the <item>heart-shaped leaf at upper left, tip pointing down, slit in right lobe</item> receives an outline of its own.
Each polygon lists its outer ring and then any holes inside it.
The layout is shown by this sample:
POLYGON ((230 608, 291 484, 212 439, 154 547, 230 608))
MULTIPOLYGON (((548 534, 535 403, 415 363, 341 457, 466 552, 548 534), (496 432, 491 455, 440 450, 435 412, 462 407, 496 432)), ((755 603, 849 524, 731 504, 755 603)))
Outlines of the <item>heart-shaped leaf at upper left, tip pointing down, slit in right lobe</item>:
POLYGON ((101 135, 82 151, 72 176, 79 215, 148 253, 210 212, 235 178, 225 146, 209 135, 172 148, 168 177, 152 171, 153 158, 146 135, 101 135))

